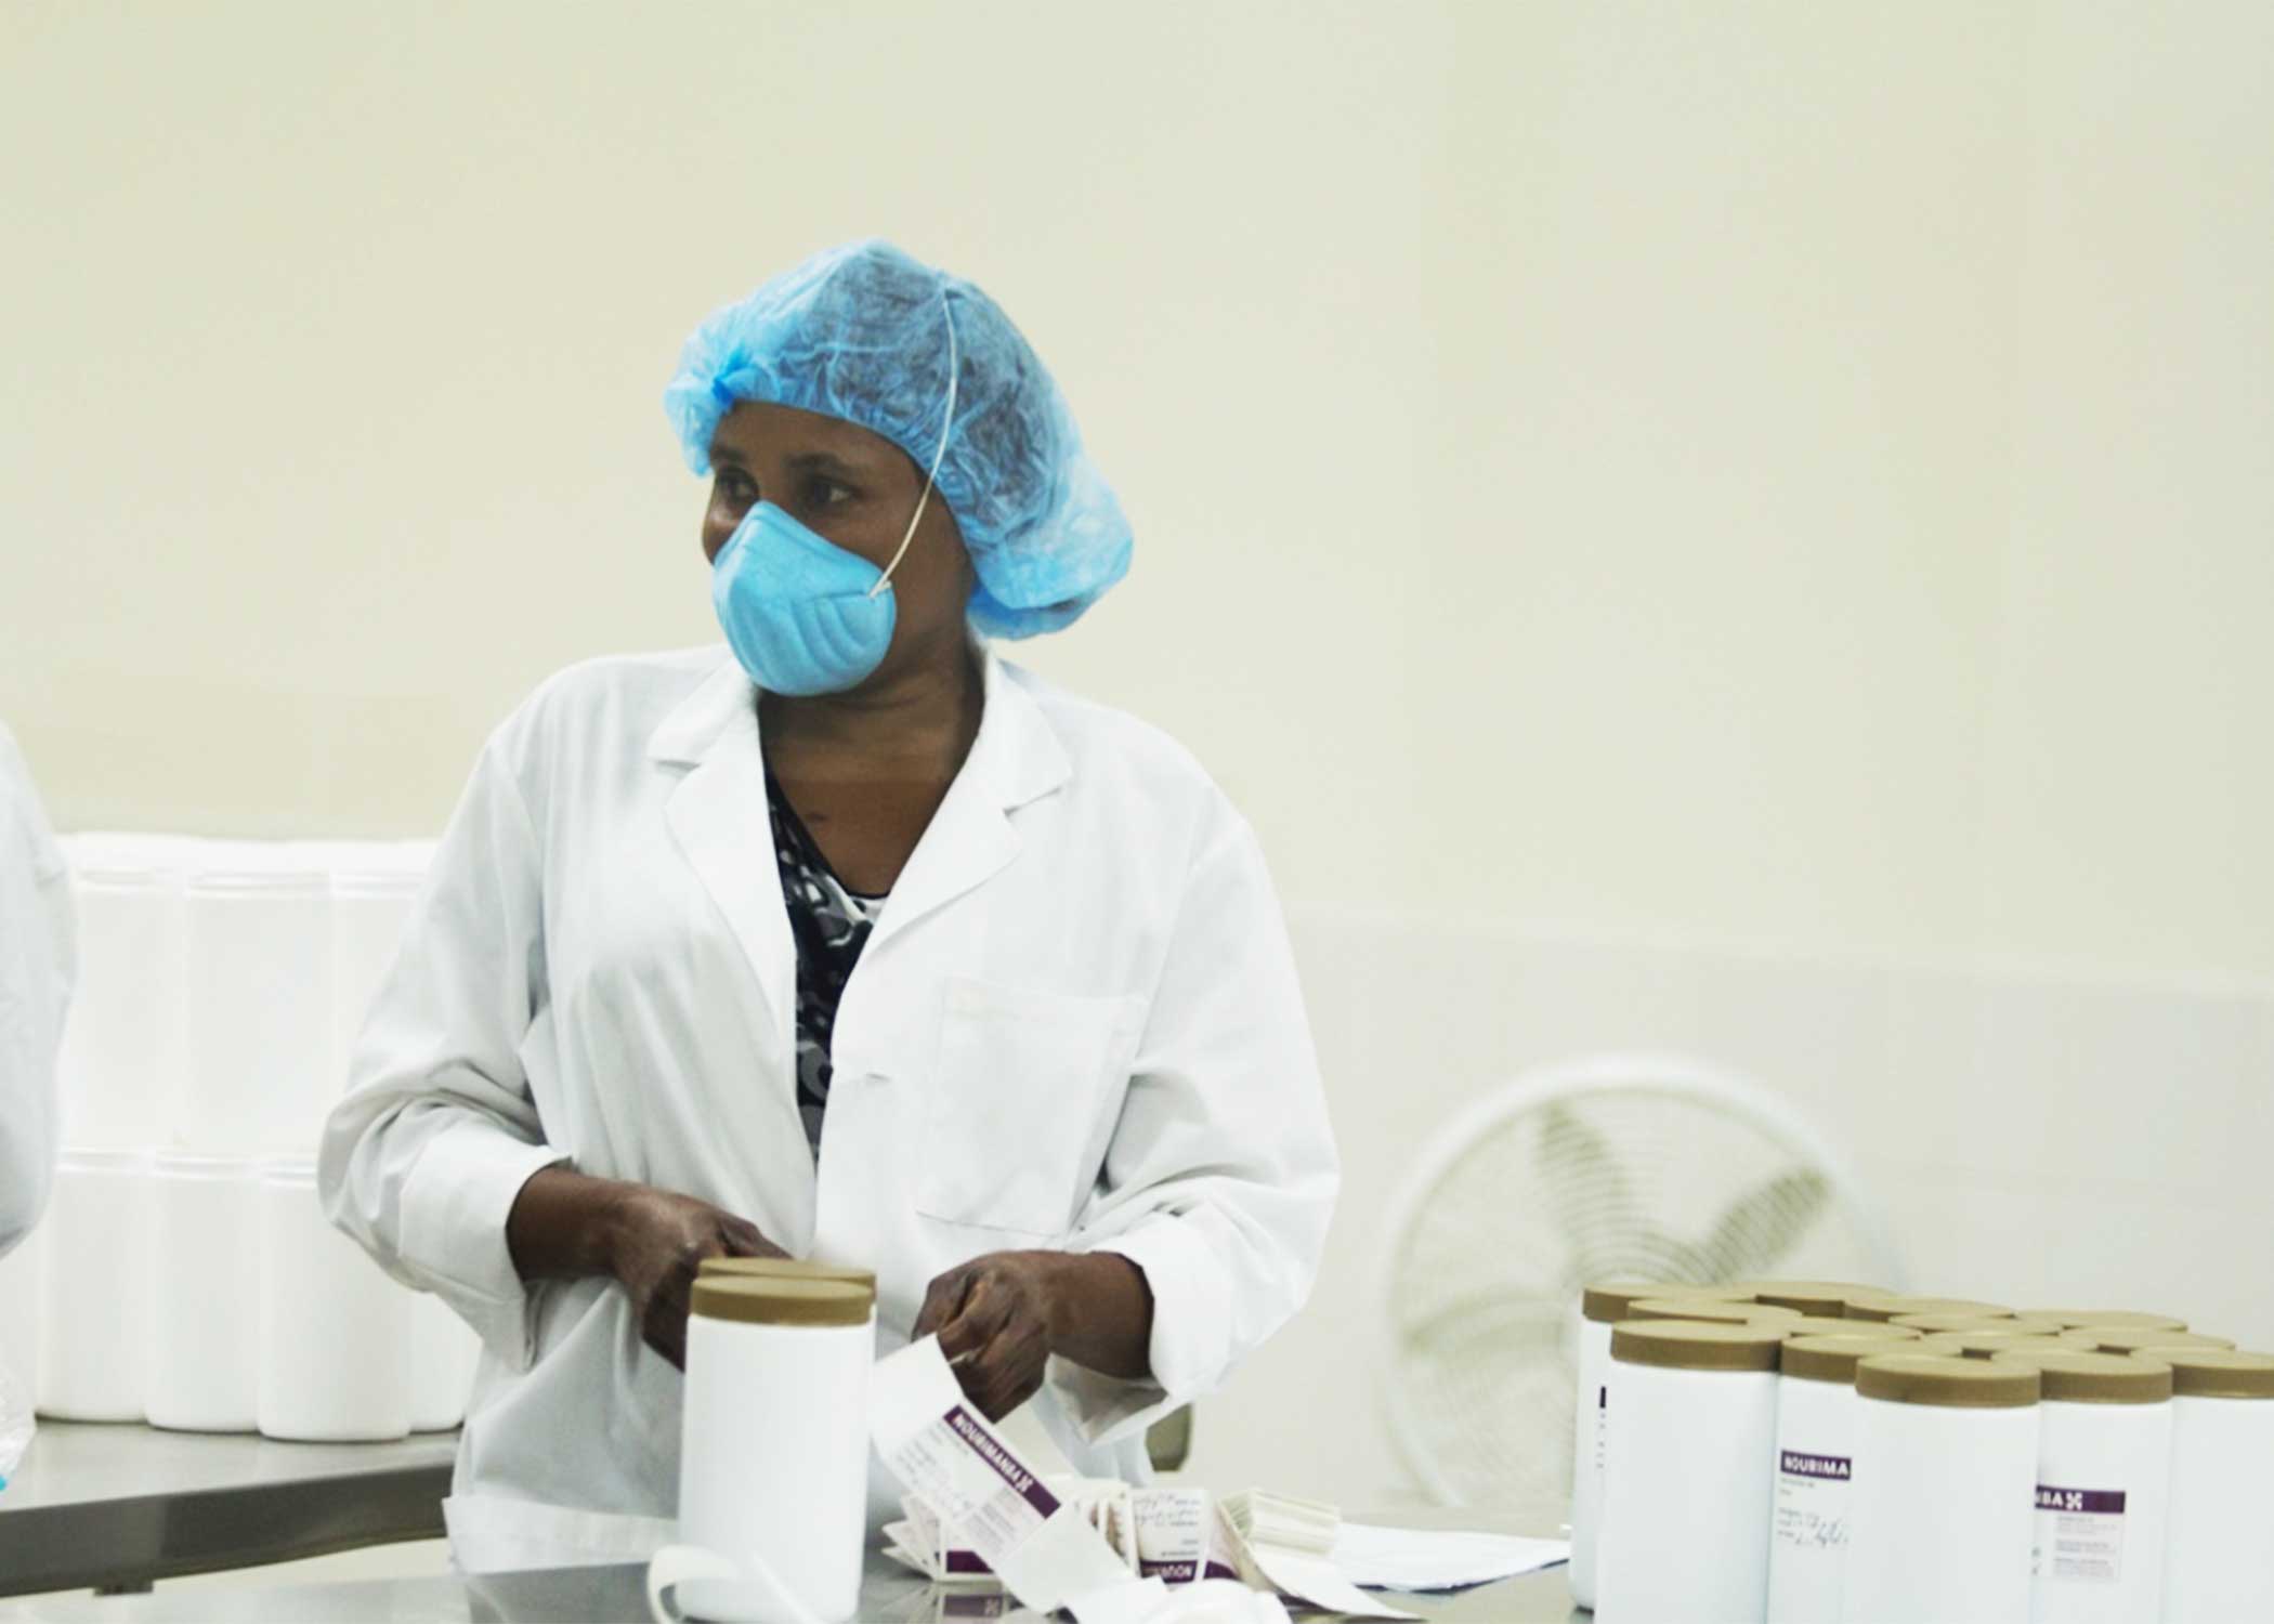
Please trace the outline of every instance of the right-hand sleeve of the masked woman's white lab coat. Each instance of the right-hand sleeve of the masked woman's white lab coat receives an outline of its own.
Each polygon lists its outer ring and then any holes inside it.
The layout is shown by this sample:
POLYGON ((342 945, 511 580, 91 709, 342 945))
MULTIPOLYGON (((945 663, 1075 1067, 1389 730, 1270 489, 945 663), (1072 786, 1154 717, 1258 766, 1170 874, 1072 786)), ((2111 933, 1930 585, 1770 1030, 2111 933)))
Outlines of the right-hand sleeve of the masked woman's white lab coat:
POLYGON ((1248 826, 1203 828, 1121 1119, 1073 1251, 1153 1292, 1153 1381, 1051 1360, 1096 1444, 1219 1387, 1310 1296, 1339 1165, 1294 951, 1248 826))

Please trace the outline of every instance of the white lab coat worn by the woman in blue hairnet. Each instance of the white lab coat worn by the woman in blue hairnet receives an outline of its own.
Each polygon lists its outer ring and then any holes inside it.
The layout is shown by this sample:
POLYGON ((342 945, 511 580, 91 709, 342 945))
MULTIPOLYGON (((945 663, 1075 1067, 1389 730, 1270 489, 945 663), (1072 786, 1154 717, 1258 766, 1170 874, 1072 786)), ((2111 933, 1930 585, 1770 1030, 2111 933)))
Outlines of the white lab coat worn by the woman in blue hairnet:
MULTIPOLYGON (((521 1183, 568 1162, 878 1276, 878 1351, 989 1251, 1119 1251, 1153 1376, 1053 1360, 1073 1465, 1310 1292, 1337 1162, 1255 835, 1173 741, 987 660, 971 757, 844 989, 819 1171, 750 682, 721 648, 600 660, 491 739, 332 1112, 332 1221, 484 1342, 446 1515, 468 1572, 671 1538, 682 1376, 607 1281, 525 1287, 521 1183)), ((871 1526, 896 1513, 871 1458, 871 1526)))

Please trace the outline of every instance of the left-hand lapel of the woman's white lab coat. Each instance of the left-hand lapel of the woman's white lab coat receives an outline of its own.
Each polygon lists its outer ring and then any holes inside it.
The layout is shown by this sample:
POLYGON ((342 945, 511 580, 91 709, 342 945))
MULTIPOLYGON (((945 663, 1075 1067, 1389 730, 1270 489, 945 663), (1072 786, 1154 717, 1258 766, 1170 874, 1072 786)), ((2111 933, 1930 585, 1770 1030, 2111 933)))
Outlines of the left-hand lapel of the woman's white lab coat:
POLYGON ((741 944, 766 1014, 789 1030, 796 946, 782 910, 782 876, 766 817, 766 757, 748 678, 725 660, 673 710, 648 741, 664 771, 689 769, 671 789, 664 817, 687 862, 741 944))

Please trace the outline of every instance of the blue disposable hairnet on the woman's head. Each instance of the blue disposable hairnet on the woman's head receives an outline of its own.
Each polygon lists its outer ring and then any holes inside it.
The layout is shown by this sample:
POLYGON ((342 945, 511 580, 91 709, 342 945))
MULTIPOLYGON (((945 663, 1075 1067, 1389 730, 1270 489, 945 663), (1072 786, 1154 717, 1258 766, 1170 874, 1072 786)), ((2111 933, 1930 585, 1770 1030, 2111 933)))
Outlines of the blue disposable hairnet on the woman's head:
POLYGON ((737 400, 857 423, 928 469, 951 314, 962 362, 937 489, 978 569, 971 621, 994 637, 1055 632, 1128 573, 1130 528, 1051 373, 969 282, 878 239, 828 248, 712 312, 664 412, 696 473, 709 473, 712 434, 737 400))

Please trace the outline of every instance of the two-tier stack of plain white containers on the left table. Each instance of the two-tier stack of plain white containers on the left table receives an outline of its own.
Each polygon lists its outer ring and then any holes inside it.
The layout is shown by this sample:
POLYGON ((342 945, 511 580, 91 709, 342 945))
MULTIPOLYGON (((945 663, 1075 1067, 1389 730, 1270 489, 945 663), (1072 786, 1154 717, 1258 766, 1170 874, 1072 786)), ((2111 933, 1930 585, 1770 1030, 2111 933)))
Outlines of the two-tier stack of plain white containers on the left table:
POLYGON ((48 1219, 0 1271, 0 1358, 55 1419, 298 1440, 457 1426, 473 1333, 337 1235, 312 1180, 432 846, 64 844, 64 1155, 48 1219))

